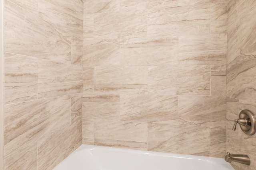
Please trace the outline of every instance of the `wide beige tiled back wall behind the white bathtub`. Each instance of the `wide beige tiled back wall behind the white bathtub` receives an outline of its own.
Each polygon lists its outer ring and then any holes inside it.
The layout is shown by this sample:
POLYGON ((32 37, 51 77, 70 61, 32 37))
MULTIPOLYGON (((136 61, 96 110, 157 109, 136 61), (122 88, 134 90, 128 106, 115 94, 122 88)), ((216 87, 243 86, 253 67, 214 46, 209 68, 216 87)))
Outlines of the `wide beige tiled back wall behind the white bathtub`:
POLYGON ((83 143, 224 157, 226 0, 85 0, 83 143))

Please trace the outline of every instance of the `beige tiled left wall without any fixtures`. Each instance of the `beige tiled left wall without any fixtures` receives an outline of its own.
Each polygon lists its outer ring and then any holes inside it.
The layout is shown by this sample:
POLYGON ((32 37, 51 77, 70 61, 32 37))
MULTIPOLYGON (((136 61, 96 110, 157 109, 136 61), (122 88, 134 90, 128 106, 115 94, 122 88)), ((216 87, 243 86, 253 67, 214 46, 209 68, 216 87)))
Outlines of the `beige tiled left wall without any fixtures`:
POLYGON ((52 169, 82 144, 82 0, 4 1, 4 170, 52 169))

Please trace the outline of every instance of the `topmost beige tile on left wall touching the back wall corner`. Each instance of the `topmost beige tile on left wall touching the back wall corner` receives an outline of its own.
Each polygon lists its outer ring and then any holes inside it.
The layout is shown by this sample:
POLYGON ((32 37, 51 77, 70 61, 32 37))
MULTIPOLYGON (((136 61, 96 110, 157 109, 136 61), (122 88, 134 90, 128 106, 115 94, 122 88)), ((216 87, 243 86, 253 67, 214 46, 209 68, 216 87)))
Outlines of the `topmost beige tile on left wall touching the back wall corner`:
POLYGON ((82 39, 83 6, 81 0, 38 0, 38 16, 52 23, 59 32, 82 39))

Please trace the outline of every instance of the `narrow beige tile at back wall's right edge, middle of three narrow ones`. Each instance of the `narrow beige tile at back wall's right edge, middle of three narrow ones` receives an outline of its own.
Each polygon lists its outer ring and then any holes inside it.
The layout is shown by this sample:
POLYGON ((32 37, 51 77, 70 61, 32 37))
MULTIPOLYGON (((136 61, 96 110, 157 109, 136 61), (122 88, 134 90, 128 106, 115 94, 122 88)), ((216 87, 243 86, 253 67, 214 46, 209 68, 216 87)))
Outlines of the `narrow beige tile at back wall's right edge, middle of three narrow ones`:
POLYGON ((226 96, 226 65, 211 66, 211 96, 226 96))

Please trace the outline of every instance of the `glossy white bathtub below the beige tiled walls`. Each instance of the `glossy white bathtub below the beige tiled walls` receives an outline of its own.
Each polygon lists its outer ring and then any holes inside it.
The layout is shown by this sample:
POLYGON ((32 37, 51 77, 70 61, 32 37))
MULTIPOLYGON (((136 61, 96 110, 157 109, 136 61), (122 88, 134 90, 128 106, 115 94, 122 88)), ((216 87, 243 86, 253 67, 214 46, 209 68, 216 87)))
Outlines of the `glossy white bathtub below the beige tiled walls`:
POLYGON ((234 170, 224 159, 81 145, 54 170, 234 170))

